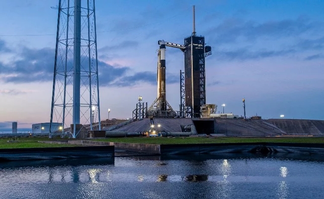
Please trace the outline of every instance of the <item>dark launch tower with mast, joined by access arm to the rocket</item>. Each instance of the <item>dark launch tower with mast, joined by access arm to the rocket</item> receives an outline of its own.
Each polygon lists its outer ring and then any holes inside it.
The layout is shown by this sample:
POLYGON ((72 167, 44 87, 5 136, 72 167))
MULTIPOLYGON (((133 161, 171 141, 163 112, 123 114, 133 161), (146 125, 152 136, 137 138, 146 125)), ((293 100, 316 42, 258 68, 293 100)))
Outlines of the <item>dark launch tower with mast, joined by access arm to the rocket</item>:
MULTIPOLYGON (((195 7, 193 6, 193 31, 184 38, 184 45, 158 41, 158 95, 148 109, 147 117, 195 117, 202 116, 206 106, 205 58, 212 54, 210 46, 205 45, 205 37, 197 36, 195 30, 195 7), (178 48, 184 54, 184 73, 180 70, 180 109, 174 111, 166 100, 165 89, 165 50, 178 48)), ((217 108, 217 105, 216 105, 217 108)), ((142 110, 134 110, 141 112, 142 110)), ((133 111, 133 113, 134 113, 133 111)), ((133 114, 134 115, 134 114, 133 114)))

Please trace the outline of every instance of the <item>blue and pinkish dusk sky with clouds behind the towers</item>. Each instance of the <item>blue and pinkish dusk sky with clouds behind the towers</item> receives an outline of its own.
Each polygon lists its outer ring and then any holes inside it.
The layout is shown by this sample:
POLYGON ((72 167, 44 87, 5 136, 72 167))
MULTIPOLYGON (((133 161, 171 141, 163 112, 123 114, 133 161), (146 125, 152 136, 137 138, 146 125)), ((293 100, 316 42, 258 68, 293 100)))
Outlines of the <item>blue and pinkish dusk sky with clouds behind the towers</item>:
MULTIPOLYGON (((0 131, 50 121, 58 0, 0 0, 0 131)), ((158 40, 192 32, 212 47, 207 103, 262 118, 324 119, 324 0, 96 0, 101 119, 157 96, 158 40), (112 84, 113 83, 113 84, 112 84)), ((184 57, 166 50, 166 98, 180 103, 184 57)))

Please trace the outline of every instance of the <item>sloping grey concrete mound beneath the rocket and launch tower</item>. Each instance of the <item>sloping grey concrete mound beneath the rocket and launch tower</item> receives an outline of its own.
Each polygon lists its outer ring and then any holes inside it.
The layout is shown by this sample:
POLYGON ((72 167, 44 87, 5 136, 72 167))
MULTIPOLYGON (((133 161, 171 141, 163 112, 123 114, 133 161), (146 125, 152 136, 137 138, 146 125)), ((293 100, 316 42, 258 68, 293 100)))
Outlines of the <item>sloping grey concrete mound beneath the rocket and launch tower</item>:
MULTIPOLYGON (((154 118, 158 131, 182 132, 181 126, 194 124, 198 134, 224 134, 225 136, 276 136, 276 135, 324 135, 324 120, 306 119, 198 119, 154 118)), ((113 131, 146 132, 151 119, 131 122, 113 131)))

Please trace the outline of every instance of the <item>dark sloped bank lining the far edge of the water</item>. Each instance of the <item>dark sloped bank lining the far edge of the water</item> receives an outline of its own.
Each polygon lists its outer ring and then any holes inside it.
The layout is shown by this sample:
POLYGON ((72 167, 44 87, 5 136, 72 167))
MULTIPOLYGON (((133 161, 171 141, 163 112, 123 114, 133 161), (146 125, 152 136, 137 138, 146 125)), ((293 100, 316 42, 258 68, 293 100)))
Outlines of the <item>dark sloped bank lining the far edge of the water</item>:
MULTIPOLYGON (((52 142, 52 141, 50 141, 52 142)), ((212 143, 212 144, 137 144, 79 140, 84 146, 0 149, 0 162, 16 160, 50 160, 81 158, 112 158, 116 151, 122 156, 147 155, 210 155, 210 154, 303 154, 323 155, 324 144, 309 143, 212 143), (94 144, 95 143, 95 144, 94 144), (92 145, 92 146, 89 146, 92 145), (101 145, 101 146, 100 146, 101 145)), ((75 144, 75 142, 72 142, 75 144)), ((71 143, 71 144, 72 144, 71 143)))

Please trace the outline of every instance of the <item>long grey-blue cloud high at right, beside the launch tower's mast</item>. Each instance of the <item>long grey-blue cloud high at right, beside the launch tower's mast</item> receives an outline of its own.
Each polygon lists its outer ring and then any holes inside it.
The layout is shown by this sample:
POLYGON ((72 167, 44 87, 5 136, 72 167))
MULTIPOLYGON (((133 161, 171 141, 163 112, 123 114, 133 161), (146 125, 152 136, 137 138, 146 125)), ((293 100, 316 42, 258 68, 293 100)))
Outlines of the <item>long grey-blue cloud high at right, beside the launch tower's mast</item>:
POLYGON ((319 22, 312 22, 305 17, 266 21, 259 23, 253 20, 244 21, 238 18, 227 18, 221 24, 206 31, 213 43, 235 43, 239 39, 254 41, 262 36, 273 38, 298 36, 309 30, 316 30, 319 22))

